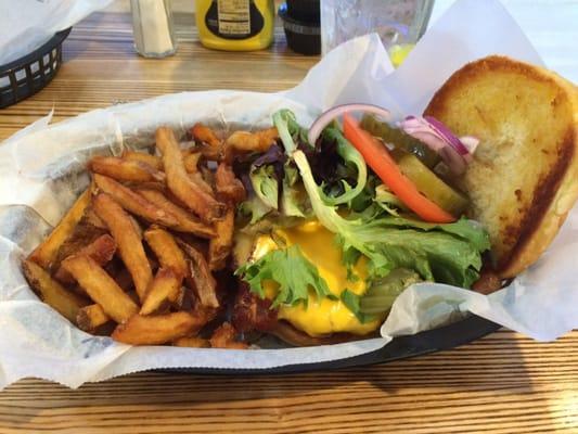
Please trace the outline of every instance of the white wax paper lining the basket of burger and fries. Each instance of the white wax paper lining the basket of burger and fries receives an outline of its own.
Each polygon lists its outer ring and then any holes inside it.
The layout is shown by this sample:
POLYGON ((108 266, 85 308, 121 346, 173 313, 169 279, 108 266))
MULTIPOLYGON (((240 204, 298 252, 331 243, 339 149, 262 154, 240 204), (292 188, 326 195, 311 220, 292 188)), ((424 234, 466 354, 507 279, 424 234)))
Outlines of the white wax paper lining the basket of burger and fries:
POLYGON ((499 2, 458 1, 407 62, 393 71, 376 35, 338 47, 294 89, 279 93, 232 90, 170 94, 98 110, 55 125, 40 119, 0 146, 0 387, 36 376, 70 387, 129 372, 163 368, 264 369, 336 360, 386 345, 474 312, 537 340, 578 327, 578 217, 573 213, 542 259, 502 291, 484 296, 439 284, 404 291, 382 327, 382 339, 312 348, 253 350, 130 347, 94 337, 38 301, 20 260, 37 245, 88 184, 85 163, 152 143, 157 126, 178 133, 195 122, 217 128, 270 125, 281 107, 309 125, 324 108, 347 102, 387 106, 397 116, 421 113, 439 86, 465 63, 505 54, 541 60, 499 2), (489 29, 490 27, 490 29, 489 29))

